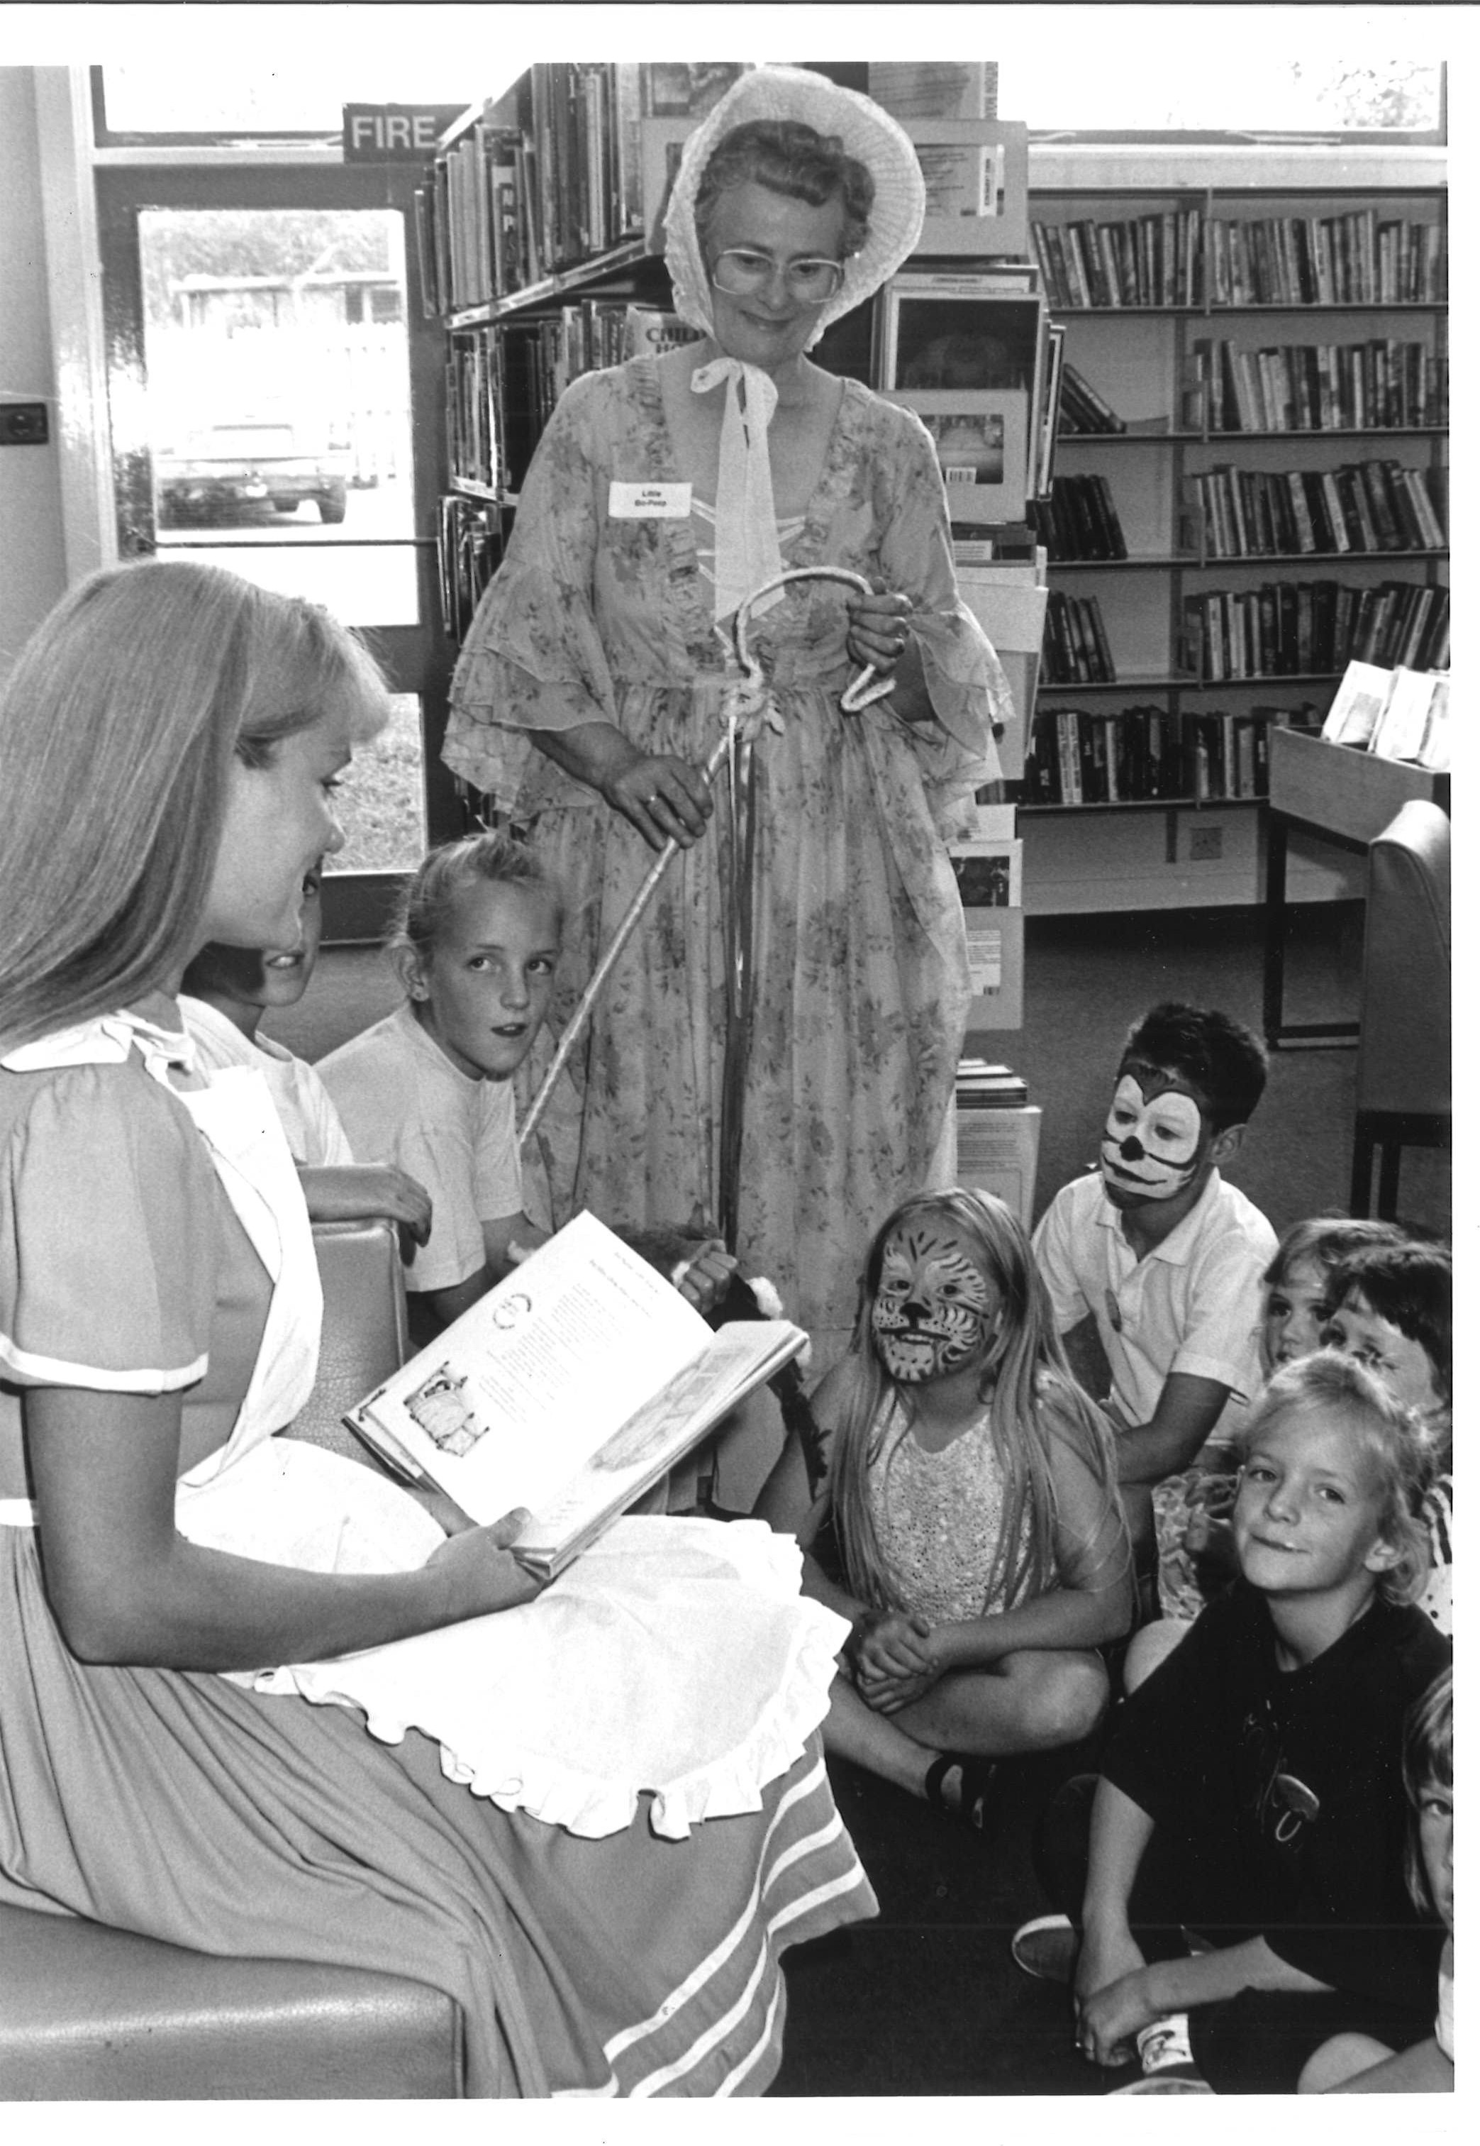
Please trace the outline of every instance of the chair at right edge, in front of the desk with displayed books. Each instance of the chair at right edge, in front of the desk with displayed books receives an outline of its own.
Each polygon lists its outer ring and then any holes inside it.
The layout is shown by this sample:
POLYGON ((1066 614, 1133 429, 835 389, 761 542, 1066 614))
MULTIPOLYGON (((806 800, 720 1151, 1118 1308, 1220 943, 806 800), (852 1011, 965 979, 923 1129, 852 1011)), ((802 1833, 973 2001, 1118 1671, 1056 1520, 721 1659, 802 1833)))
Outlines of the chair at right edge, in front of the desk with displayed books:
POLYGON ((1446 1148, 1450 1088, 1450 820, 1411 798, 1368 846, 1351 1212, 1398 1208, 1405 1146, 1446 1148))

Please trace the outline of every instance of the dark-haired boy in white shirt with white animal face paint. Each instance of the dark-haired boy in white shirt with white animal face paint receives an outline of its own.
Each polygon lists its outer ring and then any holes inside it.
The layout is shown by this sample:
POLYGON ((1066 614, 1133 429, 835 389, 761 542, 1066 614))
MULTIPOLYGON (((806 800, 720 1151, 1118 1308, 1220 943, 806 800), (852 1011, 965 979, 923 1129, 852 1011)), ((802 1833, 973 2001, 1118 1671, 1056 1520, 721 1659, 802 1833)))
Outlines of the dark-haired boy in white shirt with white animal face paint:
POLYGON ((1115 1466, 1148 1562, 1152 1487, 1190 1464, 1227 1466, 1259 1391, 1274 1230, 1220 1165, 1263 1079, 1263 1045, 1242 1021, 1152 1006, 1126 1037, 1098 1172, 1066 1185, 1034 1232, 1060 1335, 1094 1324, 1109 1361, 1115 1466))

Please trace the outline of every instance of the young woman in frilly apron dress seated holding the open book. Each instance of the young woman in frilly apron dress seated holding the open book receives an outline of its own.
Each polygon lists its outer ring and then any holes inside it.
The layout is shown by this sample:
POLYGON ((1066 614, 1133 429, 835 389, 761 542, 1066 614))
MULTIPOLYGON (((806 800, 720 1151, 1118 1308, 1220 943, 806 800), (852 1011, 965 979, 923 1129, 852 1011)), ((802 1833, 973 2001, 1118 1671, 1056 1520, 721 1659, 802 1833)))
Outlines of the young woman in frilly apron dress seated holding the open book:
MULTIPOLYGON (((208 940, 296 944, 305 878, 343 843, 335 785, 384 715, 324 612, 184 560, 79 584, 0 695, 0 1901, 423 1981, 459 2007, 468 2094, 759 2092, 781 1944, 871 1904, 809 1738, 832 1620, 804 1674, 817 1605, 714 1582, 693 1685, 729 1695, 770 1629, 789 1648, 761 1672, 749 1805, 710 1826, 699 1803, 661 1839, 633 1796, 577 1839, 453 1779, 420 1710, 463 1648, 474 1728, 513 1713, 500 1648, 549 1646, 538 1689, 571 1710, 609 1685, 571 1697, 579 1605, 564 1625, 534 1603, 517 1515, 444 1534, 275 1436, 317 1367, 309 1217, 266 1086, 195 1071, 176 991, 208 940), (309 1704, 313 1663, 345 1691, 401 1640, 399 1740, 309 1704)), ((689 1530, 686 1571, 734 1532, 646 1526, 689 1530)), ((624 1569, 605 1586, 631 1599, 624 1569)), ((674 1648, 648 1652, 665 1719, 701 1728, 674 1648)), ((719 1785, 701 1768, 714 1811, 719 1785)))

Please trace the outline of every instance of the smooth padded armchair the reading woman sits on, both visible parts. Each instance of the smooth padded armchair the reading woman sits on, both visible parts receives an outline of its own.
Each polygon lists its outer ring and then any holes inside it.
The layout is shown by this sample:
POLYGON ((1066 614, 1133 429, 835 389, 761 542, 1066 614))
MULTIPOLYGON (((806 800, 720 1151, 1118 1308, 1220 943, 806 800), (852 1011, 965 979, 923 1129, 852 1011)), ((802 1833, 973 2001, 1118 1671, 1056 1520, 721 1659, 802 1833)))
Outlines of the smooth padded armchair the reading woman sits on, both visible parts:
MULTIPOLYGON (((405 1358, 390 1223, 322 1223, 324 1348, 290 1436, 375 1466, 339 1421, 405 1358)), ((365 1968, 221 1959, 0 1906, 0 2101, 429 2101, 461 2094, 442 1989, 365 1968)))

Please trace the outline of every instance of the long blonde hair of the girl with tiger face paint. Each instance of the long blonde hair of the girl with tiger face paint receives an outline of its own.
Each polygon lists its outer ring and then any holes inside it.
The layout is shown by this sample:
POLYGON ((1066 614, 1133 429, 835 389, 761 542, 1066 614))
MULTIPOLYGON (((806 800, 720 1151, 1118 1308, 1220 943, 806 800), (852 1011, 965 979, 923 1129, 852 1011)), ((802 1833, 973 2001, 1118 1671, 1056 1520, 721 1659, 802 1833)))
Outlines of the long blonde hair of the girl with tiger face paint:
POLYGON ((989 1436, 1006 1485, 987 1599, 1015 1603, 1053 1586, 1055 1434, 1070 1440, 1111 1498, 1115 1455, 1105 1416, 1068 1369, 1023 1225, 993 1193, 967 1187, 914 1193, 882 1223, 869 1247, 849 1350, 854 1378, 832 1438, 828 1470, 839 1547, 847 1584, 862 1601, 879 1610, 899 1601, 899 1586, 873 1526, 869 1472, 884 1451, 892 1416, 888 1403, 907 1408, 912 1388, 892 1380, 879 1361, 873 1305, 890 1236, 905 1223, 927 1217, 961 1230, 982 1273, 1002 1294, 997 1333, 978 1388, 980 1401, 989 1406, 989 1436))

